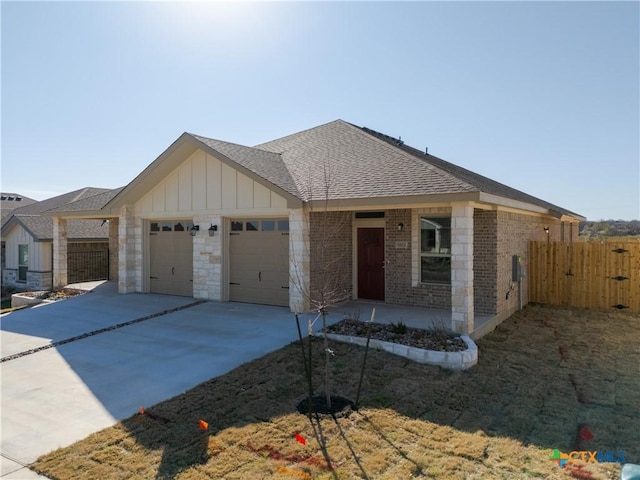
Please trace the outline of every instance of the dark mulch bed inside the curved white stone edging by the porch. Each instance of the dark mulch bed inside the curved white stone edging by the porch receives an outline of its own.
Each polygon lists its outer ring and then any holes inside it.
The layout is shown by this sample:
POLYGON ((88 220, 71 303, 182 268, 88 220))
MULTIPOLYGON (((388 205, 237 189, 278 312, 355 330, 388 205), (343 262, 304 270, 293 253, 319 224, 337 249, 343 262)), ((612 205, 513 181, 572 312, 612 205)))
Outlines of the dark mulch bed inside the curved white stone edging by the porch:
POLYGON ((371 327, 371 338, 376 340, 438 352, 462 352, 467 349, 467 344, 457 335, 443 330, 406 327, 403 324, 365 323, 359 320, 345 319, 331 325, 327 331, 338 335, 366 337, 369 326, 371 327))

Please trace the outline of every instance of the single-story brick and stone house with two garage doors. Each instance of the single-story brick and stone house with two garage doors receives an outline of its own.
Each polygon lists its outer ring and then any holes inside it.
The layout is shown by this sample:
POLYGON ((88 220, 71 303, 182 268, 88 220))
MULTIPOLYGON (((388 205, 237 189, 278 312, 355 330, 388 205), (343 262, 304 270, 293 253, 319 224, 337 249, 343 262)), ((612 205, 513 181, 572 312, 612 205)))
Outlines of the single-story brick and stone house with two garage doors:
POLYGON ((575 241, 584 220, 342 120, 255 147, 184 133, 117 195, 93 200, 48 212, 61 232, 56 284, 67 281, 67 222, 109 219, 121 293, 300 311, 331 255, 352 298, 450 309, 459 332, 476 314, 513 313, 518 281, 526 304, 528 242, 575 241))

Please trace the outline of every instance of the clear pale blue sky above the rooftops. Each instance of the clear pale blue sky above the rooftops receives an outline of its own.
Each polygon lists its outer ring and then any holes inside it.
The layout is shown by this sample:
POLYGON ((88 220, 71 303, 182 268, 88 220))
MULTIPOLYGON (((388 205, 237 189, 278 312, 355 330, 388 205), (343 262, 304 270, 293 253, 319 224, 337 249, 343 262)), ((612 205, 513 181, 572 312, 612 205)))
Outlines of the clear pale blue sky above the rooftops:
POLYGON ((638 2, 2 2, 2 191, 126 185, 182 132, 338 118, 640 218, 638 2))

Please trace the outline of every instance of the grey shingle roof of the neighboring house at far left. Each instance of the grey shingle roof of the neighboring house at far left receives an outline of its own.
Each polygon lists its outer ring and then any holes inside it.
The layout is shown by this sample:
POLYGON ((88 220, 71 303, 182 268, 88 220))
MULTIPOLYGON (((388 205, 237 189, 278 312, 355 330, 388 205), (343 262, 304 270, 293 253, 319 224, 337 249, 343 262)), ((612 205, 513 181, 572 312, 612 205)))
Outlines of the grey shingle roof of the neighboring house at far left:
MULTIPOLYGON (((64 193, 48 198, 41 202, 34 202, 13 210, 12 215, 3 223, 2 233, 5 234, 16 224, 21 225, 39 242, 53 239, 53 219, 47 215, 52 209, 66 208, 75 203, 95 201, 94 197, 108 195, 112 190, 106 188, 85 187, 73 192, 64 193)), ((101 206, 104 203, 100 202, 101 206)), ((109 227, 102 220, 69 220, 67 224, 67 238, 69 240, 96 240, 109 236, 109 227)))

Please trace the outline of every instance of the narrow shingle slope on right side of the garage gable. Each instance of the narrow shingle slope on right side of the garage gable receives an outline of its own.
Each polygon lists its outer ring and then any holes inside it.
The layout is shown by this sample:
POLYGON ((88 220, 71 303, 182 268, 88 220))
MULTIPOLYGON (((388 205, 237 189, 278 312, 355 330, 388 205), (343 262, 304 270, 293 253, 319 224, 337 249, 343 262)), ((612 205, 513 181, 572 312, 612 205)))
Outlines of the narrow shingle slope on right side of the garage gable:
POLYGON ((300 198, 300 192, 293 177, 277 153, 258 148, 245 147, 235 143, 190 134, 196 140, 222 153, 230 160, 252 171, 286 192, 300 198))

